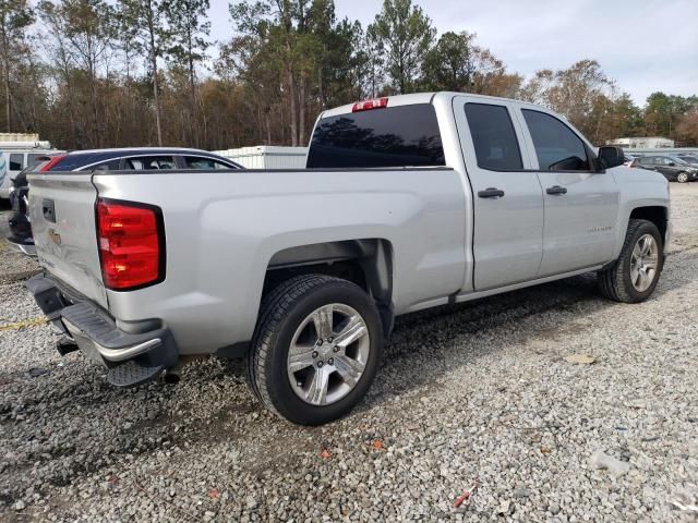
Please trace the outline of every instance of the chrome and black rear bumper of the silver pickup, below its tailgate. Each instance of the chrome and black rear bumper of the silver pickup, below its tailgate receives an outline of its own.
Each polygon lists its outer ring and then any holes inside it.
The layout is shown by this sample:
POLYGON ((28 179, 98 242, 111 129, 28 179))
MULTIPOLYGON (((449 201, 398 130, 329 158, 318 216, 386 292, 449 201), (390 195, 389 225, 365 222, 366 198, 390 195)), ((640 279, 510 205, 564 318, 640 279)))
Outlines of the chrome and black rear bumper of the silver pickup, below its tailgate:
MULTIPOLYGON (((111 385, 141 385, 177 364, 177 345, 167 327, 141 331, 136 326, 125 332, 95 303, 61 289, 51 278, 36 276, 25 285, 49 321, 83 354, 108 368, 111 385)), ((152 327, 153 321, 144 325, 152 327)))

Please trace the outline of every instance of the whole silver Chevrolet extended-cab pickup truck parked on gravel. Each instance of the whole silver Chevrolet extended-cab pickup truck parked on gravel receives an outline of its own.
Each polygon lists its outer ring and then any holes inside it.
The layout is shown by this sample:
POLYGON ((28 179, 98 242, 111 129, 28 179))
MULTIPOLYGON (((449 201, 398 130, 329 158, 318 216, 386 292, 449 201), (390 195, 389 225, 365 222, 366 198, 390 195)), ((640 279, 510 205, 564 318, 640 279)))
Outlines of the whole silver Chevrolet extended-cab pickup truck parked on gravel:
POLYGON ((669 185, 622 162, 530 104, 366 100, 320 115, 303 170, 31 174, 27 288, 59 351, 116 386, 245 357, 264 405, 322 424, 366 392, 397 315, 589 271, 647 300, 669 185))

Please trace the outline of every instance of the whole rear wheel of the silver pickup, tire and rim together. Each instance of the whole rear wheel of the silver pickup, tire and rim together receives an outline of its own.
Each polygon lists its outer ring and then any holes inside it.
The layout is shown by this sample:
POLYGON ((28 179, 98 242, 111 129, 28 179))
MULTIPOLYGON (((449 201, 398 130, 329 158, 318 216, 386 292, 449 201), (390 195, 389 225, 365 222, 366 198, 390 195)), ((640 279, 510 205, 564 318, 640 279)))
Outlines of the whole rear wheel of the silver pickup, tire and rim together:
POLYGON ((358 285, 322 275, 293 278, 272 291, 258 321, 248 376, 274 413, 321 425, 348 413, 369 390, 383 328, 358 285))

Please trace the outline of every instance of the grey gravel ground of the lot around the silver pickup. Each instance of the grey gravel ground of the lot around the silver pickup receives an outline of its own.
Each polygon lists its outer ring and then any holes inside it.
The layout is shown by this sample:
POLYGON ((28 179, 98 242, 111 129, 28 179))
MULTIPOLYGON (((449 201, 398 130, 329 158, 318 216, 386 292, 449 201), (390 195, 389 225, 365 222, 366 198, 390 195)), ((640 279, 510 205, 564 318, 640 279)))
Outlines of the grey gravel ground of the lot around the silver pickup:
MULTIPOLYGON (((587 276, 401 318, 325 427, 262 410, 239 364, 120 391, 46 326, 0 330, 0 520, 698 521, 673 503, 698 503, 698 183, 672 190, 651 300, 587 276)), ((13 264, 0 326, 39 316, 13 264)))

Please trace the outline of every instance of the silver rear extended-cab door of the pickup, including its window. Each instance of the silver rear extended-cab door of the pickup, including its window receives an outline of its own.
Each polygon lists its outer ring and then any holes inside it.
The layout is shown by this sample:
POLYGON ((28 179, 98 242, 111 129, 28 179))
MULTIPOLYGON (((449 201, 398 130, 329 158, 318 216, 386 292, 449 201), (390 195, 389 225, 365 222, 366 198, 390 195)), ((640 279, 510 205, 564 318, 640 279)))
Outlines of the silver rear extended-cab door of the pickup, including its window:
POLYGON ((543 252, 543 194, 520 126, 510 104, 484 100, 454 98, 473 195, 476 291, 534 279, 543 252))

